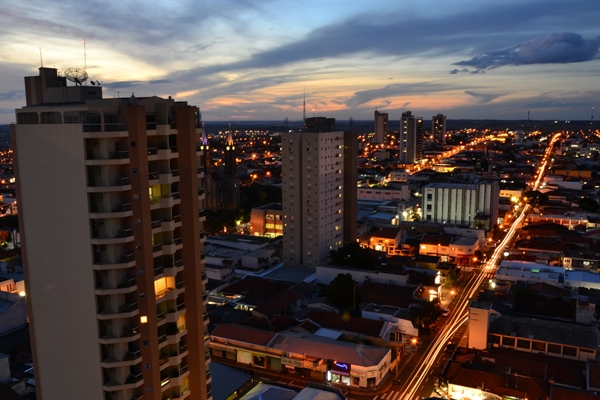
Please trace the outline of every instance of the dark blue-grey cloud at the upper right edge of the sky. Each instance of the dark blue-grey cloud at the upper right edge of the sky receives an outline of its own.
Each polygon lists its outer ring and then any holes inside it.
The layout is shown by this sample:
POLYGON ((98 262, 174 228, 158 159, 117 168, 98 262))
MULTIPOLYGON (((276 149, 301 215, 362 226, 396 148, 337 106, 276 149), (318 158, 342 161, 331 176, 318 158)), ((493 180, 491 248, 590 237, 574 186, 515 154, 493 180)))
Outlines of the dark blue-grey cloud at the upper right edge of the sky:
POLYGON ((474 67, 477 71, 483 71, 505 65, 568 64, 594 60, 598 58, 598 49, 600 36, 596 39, 583 39, 576 33, 551 33, 511 48, 489 51, 453 65, 474 67))

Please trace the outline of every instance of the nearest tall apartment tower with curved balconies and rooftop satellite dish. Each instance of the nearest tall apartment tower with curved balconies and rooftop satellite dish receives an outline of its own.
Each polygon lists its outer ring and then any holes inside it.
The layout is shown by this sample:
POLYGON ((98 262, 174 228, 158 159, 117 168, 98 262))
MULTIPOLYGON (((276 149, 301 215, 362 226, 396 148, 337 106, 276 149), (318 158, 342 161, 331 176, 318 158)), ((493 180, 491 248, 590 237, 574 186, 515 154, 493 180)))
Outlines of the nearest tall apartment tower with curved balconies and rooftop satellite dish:
POLYGON ((38 398, 212 398, 198 108, 39 72, 11 126, 38 398))

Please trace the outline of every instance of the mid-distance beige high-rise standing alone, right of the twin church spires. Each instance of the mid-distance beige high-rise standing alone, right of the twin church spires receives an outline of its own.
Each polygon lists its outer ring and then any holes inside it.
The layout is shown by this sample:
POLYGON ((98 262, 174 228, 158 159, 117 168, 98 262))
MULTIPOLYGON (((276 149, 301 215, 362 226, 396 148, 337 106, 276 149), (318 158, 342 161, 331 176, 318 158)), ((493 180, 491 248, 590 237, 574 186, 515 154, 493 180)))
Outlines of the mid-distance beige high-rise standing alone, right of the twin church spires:
MULTIPOLYGON (((311 119, 307 126, 324 126, 311 119)), ((356 240, 357 135, 286 132, 281 148, 283 262, 316 268, 356 240)))

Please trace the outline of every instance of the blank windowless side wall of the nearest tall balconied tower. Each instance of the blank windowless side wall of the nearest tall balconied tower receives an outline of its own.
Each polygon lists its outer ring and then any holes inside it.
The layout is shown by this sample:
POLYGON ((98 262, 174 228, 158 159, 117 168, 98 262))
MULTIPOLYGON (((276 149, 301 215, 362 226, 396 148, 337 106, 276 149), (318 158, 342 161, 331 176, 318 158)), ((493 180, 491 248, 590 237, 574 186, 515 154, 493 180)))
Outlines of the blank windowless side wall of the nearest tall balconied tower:
POLYGON ((67 387, 69 393, 99 394, 102 374, 81 125, 13 128, 39 397, 65 398, 67 387))

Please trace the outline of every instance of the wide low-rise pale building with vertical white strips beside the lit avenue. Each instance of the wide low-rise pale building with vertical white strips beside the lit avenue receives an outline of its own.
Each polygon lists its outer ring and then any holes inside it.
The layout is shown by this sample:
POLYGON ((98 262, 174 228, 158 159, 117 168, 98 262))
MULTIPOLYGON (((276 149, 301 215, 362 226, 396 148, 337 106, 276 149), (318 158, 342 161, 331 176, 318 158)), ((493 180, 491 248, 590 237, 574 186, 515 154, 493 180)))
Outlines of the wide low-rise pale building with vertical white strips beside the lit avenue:
POLYGON ((434 182, 423 187, 423 220, 492 228, 498 221, 498 182, 434 182))

